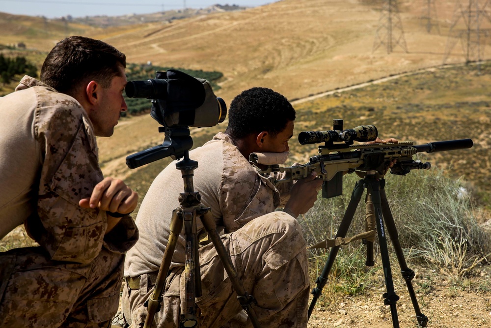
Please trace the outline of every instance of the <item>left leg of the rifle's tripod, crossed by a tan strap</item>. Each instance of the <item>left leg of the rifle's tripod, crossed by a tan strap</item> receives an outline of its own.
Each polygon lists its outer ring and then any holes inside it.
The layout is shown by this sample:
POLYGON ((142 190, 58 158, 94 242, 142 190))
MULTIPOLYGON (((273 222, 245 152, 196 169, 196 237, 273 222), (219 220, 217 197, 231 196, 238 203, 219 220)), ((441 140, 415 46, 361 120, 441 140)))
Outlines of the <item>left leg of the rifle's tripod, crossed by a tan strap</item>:
MULTIPOLYGON (((353 189, 353 193, 351 194, 350 203, 346 208, 346 212, 344 213, 343 219, 341 220, 341 224, 339 225, 338 232, 336 234, 337 237, 346 237, 348 233, 348 229, 350 228, 351 221, 353 221, 353 216, 355 215, 356 208, 361 199, 361 195, 363 194, 364 187, 360 183, 360 181, 356 182, 355 188, 353 189)), ((308 317, 310 319, 310 315, 314 310, 315 302, 322 294, 322 289, 326 286, 327 276, 334 264, 334 260, 336 259, 336 255, 338 253, 340 246, 332 247, 329 256, 327 258, 326 265, 322 269, 321 275, 315 281, 317 286, 312 290, 311 294, 313 295, 312 301, 310 302, 310 306, 308 308, 308 317)))

